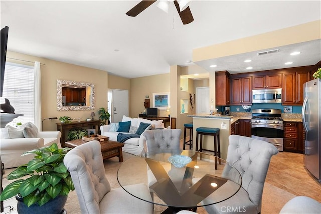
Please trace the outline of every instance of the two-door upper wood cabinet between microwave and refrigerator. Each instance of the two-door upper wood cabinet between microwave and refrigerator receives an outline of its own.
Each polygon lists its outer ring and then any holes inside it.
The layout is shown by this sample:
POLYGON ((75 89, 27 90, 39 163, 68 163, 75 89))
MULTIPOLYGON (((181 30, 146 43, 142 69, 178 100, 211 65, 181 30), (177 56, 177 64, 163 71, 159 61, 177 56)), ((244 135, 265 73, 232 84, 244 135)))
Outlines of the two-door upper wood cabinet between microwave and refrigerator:
POLYGON ((303 84, 310 80, 310 76, 306 70, 283 74, 282 105, 303 104, 303 84))

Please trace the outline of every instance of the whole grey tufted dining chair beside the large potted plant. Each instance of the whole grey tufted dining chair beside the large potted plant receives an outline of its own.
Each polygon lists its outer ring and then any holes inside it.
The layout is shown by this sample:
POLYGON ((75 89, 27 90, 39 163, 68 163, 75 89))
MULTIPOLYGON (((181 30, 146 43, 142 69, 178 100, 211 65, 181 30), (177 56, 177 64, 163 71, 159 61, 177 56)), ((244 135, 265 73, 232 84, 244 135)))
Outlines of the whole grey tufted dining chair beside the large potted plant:
MULTIPOLYGON (((140 200, 123 188, 111 189, 98 141, 90 141, 70 150, 64 157, 78 196, 81 213, 153 213, 151 203, 140 200)), ((151 200, 145 184, 131 185, 139 198, 151 200)))

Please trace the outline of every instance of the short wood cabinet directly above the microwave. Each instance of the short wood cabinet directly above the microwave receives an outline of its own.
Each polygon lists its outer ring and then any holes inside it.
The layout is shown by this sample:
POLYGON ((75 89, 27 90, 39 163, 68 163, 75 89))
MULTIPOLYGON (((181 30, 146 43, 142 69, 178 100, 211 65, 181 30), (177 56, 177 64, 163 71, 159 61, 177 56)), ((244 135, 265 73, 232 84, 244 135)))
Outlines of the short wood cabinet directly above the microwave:
POLYGON ((253 76, 253 89, 273 89, 282 87, 282 74, 253 76))

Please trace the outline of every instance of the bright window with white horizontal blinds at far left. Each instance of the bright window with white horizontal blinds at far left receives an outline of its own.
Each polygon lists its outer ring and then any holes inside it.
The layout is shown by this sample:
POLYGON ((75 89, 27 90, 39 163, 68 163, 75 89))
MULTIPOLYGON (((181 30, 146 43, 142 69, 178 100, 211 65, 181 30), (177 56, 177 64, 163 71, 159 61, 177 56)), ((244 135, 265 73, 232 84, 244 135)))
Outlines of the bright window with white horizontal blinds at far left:
POLYGON ((34 66, 6 62, 1 103, 5 103, 4 98, 7 98, 15 108, 15 113, 24 115, 15 118, 9 123, 11 125, 16 122, 35 123, 34 74, 34 66))

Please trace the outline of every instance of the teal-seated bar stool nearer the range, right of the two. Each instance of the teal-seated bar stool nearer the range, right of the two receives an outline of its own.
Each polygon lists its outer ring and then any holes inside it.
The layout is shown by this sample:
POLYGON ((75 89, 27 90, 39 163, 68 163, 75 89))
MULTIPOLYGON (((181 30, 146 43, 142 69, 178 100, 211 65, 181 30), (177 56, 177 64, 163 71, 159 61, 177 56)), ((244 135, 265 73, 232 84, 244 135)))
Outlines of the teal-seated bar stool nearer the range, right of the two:
MULTIPOLYGON (((210 151, 214 152, 214 156, 221 157, 221 150, 220 150, 220 129, 219 128, 209 128, 209 127, 198 127, 196 128, 196 151, 202 152, 210 151), (200 149, 198 149, 199 143, 199 135, 201 135, 200 141, 200 149), (214 136, 214 151, 203 149, 203 135, 214 136)), ((221 164, 221 159, 219 159, 219 164, 221 164)), ((215 161, 215 169, 217 169, 217 163, 215 161)))

